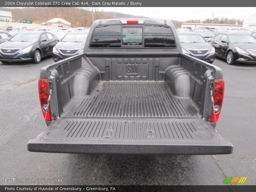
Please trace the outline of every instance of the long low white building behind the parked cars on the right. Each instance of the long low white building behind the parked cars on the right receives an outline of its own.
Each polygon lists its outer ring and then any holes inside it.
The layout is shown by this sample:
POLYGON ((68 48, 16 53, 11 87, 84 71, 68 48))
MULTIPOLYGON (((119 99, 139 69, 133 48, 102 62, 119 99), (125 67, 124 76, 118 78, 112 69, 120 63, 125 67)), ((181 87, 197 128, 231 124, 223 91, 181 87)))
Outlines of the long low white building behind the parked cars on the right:
POLYGON ((242 25, 231 25, 231 24, 212 24, 212 23, 181 23, 181 28, 191 27, 192 29, 196 27, 203 28, 241 28, 242 25))

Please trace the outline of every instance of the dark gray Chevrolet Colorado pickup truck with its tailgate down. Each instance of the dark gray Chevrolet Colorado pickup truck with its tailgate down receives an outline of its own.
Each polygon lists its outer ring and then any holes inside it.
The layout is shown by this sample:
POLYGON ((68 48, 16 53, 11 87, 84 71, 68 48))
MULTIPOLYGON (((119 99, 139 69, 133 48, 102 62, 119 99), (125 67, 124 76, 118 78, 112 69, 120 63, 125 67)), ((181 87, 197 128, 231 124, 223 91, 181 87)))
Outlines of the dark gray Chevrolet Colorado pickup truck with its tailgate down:
POLYGON ((230 154, 215 130, 219 67, 182 53, 170 20, 96 20, 84 52, 41 69, 48 127, 28 150, 99 154, 230 154))

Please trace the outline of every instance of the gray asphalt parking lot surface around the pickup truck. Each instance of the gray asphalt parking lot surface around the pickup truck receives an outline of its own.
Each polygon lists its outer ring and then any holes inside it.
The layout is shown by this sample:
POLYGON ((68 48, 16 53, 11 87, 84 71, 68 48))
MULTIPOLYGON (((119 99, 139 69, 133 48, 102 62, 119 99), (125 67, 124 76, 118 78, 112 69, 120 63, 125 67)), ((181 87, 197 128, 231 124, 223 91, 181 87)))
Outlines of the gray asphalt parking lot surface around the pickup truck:
MULTIPOLYGON (((105 156, 27 151, 28 140, 44 128, 37 79, 53 63, 0 62, 0 185, 5 178, 62 179, 63 185, 223 185, 225 177, 256 183, 256 65, 229 66, 215 59, 225 79, 225 98, 217 131, 234 145, 231 155, 105 156)), ((29 184, 29 183, 27 183, 29 184)))

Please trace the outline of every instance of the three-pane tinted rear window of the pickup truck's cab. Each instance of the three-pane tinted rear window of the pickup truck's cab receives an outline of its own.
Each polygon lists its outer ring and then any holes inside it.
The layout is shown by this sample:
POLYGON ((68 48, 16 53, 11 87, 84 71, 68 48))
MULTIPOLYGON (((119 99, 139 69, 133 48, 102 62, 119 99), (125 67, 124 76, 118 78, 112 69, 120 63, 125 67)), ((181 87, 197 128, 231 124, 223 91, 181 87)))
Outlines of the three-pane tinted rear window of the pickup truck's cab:
POLYGON ((165 25, 106 25, 92 33, 90 48, 176 48, 165 25))

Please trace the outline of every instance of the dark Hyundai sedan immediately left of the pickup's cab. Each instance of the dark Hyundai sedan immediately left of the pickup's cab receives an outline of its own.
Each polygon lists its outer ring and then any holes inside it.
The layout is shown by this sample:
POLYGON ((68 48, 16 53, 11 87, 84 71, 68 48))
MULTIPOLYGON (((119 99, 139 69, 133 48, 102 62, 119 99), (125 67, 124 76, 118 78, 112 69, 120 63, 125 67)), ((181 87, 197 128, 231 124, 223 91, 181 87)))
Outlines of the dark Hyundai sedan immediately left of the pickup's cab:
POLYGON ((68 33, 55 47, 53 47, 53 60, 57 62, 82 53, 86 37, 87 33, 84 32, 68 33))

